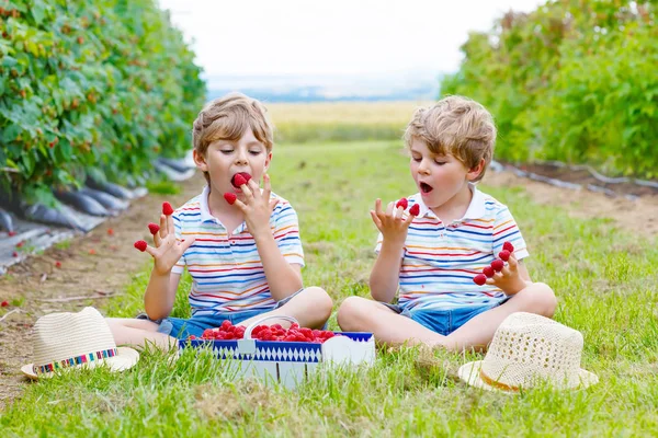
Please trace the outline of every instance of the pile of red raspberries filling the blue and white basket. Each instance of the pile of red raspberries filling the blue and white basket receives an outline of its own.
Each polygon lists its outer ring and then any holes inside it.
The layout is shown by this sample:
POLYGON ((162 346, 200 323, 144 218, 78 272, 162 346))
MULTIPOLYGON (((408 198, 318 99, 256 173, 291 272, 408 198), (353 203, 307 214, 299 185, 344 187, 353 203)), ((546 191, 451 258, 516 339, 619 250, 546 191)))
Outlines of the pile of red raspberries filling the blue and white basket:
MULTIPOLYGON (((232 325, 230 321, 225 320, 217 328, 204 330, 201 338, 213 341, 241 339, 245 337, 245 330, 243 325, 232 325)), ((322 344, 333 336, 340 335, 325 330, 299 327, 297 323, 294 323, 287 330, 283 328, 281 324, 257 325, 251 332, 251 337, 260 341, 306 342, 314 344, 322 344)), ((196 339, 196 336, 191 335, 190 339, 196 339)))

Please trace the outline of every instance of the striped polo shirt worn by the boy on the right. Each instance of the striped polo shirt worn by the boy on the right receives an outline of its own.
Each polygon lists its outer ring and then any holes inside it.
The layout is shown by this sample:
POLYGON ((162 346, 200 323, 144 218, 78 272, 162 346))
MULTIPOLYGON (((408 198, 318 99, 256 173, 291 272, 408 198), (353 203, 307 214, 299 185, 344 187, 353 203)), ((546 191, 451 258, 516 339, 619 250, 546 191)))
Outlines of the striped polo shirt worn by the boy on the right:
MULTIPOLYGON (((409 207, 419 204, 420 214, 405 241, 398 290, 398 304, 404 309, 492 304, 506 297, 495 286, 476 285, 473 277, 498 258, 506 241, 514 245, 518 260, 526 257, 525 241, 507 206, 473 184, 470 189, 466 214, 449 224, 424 205, 420 194, 409 197, 409 207)), ((379 233, 377 253, 382 239, 379 233)))

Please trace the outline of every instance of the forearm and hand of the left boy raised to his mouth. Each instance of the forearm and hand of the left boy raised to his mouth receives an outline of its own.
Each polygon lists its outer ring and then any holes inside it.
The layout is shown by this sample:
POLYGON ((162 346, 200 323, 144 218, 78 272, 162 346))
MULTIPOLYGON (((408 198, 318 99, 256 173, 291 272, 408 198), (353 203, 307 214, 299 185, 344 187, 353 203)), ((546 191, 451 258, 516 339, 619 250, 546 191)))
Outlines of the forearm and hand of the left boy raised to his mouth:
POLYGON ((280 301, 302 289, 302 267, 285 260, 272 234, 270 216, 277 200, 270 200, 272 194, 270 176, 263 175, 262 194, 253 180, 249 180, 240 188, 245 194, 245 203, 238 199, 236 206, 245 214, 247 227, 256 241, 270 293, 274 300, 280 301))

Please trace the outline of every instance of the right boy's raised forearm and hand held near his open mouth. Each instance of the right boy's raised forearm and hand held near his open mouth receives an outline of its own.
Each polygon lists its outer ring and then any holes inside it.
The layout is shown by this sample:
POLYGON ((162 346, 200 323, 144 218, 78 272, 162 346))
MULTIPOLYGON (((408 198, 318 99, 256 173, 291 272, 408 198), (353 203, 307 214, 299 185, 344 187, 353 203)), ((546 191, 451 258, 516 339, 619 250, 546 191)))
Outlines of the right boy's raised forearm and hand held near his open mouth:
POLYGON ((407 240, 409 224, 416 218, 413 215, 401 219, 404 209, 394 211, 394 203, 389 203, 386 212, 382 211, 382 199, 375 201, 371 217, 382 232, 382 249, 370 276, 371 295, 377 301, 390 302, 398 288, 402 251, 407 240))

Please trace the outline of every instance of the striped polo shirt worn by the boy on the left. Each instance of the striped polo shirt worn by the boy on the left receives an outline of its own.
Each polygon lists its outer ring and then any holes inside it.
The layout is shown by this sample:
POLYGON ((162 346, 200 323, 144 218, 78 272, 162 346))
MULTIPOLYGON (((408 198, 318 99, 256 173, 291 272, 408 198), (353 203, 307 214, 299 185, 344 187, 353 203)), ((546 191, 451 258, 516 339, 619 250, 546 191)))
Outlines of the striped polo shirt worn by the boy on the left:
MULTIPOLYGON (((177 239, 194 237, 196 241, 185 251, 171 270, 181 274, 185 267, 192 276, 190 306, 195 316, 242 310, 270 310, 276 301, 270 293, 265 272, 256 241, 242 222, 228 237, 219 219, 208 209, 206 186, 203 193, 173 214, 177 239)), ((291 204, 279 199, 270 216, 270 228, 285 260, 304 266, 297 214, 291 204)))

